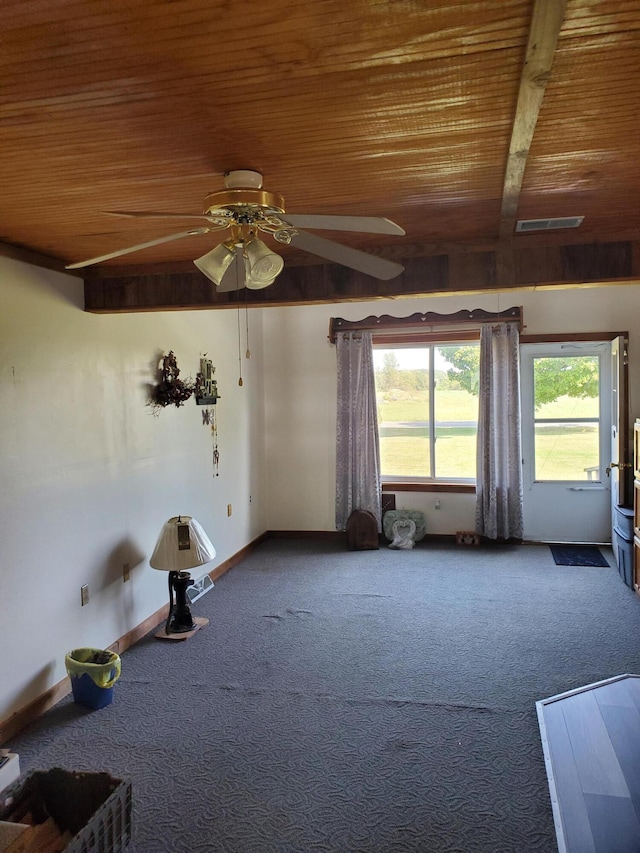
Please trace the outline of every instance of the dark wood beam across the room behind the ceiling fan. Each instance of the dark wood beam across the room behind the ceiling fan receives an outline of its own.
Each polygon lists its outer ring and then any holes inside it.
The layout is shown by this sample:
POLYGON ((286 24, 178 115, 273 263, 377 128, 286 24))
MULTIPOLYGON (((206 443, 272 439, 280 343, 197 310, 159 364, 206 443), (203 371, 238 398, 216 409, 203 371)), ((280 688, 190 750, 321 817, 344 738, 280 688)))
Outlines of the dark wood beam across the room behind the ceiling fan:
POLYGON ((217 292, 198 270, 92 268, 85 278, 85 310, 108 314, 264 308, 640 282, 640 249, 632 241, 544 245, 525 236, 486 250, 394 259, 404 263, 405 271, 391 281, 333 264, 287 266, 270 287, 236 293, 217 292))

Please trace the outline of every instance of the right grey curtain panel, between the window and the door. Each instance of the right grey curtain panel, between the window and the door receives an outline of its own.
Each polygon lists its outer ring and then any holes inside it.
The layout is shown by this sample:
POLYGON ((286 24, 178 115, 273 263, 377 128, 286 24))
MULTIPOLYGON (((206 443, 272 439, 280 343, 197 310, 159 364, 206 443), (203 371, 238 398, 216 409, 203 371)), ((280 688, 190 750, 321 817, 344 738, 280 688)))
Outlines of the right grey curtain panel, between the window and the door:
POLYGON ((520 340, 515 323, 480 333, 476 532, 521 539, 520 340))

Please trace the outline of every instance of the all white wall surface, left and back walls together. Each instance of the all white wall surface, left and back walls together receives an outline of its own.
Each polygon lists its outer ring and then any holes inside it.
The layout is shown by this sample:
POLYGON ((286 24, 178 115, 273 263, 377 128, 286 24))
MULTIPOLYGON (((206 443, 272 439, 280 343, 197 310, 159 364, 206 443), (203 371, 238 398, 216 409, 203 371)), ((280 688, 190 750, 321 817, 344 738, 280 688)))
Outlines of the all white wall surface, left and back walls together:
MULTIPOLYGON (((80 280, 2 258, 0 298, 0 720, 64 677, 67 651, 108 646, 165 604, 148 558, 170 516, 198 518, 213 566, 264 530, 334 529, 331 316, 522 305, 529 334, 628 330, 640 415, 638 286, 253 309, 242 387, 233 310, 88 314, 80 280), (169 349, 183 376, 204 353, 217 368, 218 477, 193 401, 146 405, 169 349)), ((473 495, 444 494, 439 512, 434 498, 398 492, 431 532, 472 527, 473 495)))

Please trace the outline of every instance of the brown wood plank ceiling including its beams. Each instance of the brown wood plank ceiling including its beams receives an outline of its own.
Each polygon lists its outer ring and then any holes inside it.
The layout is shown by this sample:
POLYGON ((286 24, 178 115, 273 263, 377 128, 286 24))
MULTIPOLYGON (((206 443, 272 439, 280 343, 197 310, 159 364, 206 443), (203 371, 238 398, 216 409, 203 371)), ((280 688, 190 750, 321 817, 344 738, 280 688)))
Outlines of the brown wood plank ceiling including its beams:
MULTIPOLYGON (((105 211, 200 213, 248 168, 290 213, 406 231, 323 235, 404 262, 387 282, 279 246, 249 305, 640 278, 637 0, 4 0, 0 20, 4 254, 62 268, 182 231, 105 211)), ((81 271, 87 309, 237 304, 192 264, 221 239, 81 271)))

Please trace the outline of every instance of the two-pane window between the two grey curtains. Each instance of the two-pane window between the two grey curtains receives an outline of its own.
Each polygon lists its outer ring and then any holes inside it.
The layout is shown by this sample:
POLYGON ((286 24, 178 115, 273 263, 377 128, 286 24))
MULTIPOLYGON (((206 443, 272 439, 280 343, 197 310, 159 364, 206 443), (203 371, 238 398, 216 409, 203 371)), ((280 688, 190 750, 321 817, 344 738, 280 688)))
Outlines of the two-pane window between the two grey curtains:
POLYGON ((389 343, 373 360, 383 482, 473 483, 477 340, 389 343))

